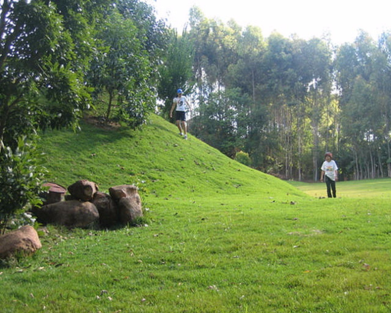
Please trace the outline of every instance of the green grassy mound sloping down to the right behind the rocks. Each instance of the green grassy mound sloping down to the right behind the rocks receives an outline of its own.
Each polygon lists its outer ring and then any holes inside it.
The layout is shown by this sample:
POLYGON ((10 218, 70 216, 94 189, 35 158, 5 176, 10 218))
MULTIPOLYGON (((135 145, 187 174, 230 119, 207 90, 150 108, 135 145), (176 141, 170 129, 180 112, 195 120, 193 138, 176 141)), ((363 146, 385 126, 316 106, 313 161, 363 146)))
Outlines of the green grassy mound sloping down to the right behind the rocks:
POLYGON ((156 115, 141 130, 97 128, 50 131, 41 141, 49 180, 67 187, 79 179, 101 191, 135 184, 143 196, 220 197, 249 194, 258 199, 303 197, 286 182, 224 156, 156 115))

